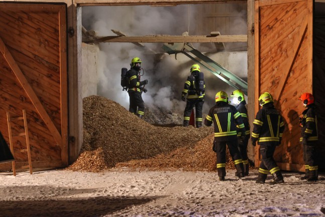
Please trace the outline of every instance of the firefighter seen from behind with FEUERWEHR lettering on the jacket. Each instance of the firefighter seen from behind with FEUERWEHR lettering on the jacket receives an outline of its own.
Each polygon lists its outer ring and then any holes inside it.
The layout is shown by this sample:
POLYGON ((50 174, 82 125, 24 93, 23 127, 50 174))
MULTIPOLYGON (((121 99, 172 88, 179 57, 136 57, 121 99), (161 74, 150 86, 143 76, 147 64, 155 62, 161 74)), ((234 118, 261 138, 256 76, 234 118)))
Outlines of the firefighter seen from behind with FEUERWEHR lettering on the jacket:
POLYGON ((244 177, 244 165, 238 150, 236 125, 241 129, 242 139, 245 136, 245 126, 241 115, 235 106, 228 104, 228 95, 224 91, 216 94, 216 104, 204 120, 206 126, 214 124, 215 138, 212 150, 217 153, 217 170, 220 181, 225 180, 226 176, 226 145, 235 164, 238 177, 244 177))

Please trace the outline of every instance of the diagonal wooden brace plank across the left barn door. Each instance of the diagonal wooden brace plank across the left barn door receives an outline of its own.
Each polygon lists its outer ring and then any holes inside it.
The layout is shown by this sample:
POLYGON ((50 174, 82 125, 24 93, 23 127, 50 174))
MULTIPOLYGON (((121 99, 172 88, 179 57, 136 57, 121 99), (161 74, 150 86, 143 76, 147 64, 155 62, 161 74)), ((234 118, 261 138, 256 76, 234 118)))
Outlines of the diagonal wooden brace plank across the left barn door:
POLYGON ((43 121, 45 122, 45 124, 47 125, 47 127, 49 128, 51 133, 53 134, 53 137, 55 138, 57 143, 62 147, 62 141, 61 141, 62 138, 61 138, 60 133, 56 129, 56 127, 53 124, 52 120, 50 119, 49 115, 47 114, 44 107, 42 106, 42 103, 40 102, 39 98, 35 94, 33 88, 30 86, 30 84, 26 80, 23 72, 18 67, 16 61, 14 60, 13 56, 9 52, 7 46, 5 45, 5 43, 4 43, 4 41, 2 40, 1 37, 0 37, 0 51, 2 52, 5 59, 7 60, 8 64, 10 65, 12 70, 14 71, 14 73, 17 76, 18 80, 21 82, 23 88, 25 89, 25 91, 29 95, 30 99, 32 100, 33 104, 35 105, 36 110, 39 112, 41 118, 43 119, 43 121))

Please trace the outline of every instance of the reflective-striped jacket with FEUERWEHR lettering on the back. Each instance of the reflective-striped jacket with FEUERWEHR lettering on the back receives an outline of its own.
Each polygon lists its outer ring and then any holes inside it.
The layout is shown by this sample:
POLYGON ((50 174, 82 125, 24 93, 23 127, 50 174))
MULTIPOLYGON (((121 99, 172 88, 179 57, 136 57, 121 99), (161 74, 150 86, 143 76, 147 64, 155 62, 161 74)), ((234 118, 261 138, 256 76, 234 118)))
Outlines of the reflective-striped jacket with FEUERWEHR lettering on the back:
POLYGON ((214 124, 215 141, 237 140, 236 125, 245 132, 245 127, 240 113, 235 106, 227 102, 219 101, 210 108, 207 118, 204 120, 206 126, 214 124))

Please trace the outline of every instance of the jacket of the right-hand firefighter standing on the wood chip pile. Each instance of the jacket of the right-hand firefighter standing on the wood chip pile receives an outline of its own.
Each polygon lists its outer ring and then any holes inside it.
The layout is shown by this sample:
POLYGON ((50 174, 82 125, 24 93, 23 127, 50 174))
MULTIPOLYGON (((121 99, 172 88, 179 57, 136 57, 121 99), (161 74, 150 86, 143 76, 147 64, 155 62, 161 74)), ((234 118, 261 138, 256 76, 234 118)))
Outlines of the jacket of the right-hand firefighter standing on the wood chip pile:
MULTIPOLYGON (((199 92, 197 90, 196 78, 198 76, 198 73, 199 73, 198 71, 193 71, 185 81, 184 89, 182 91, 182 96, 185 97, 185 95, 188 93, 187 99, 199 99, 199 98, 204 99, 205 90, 203 90, 202 92, 199 92)), ((205 84, 204 84, 204 88, 205 88, 205 84)))

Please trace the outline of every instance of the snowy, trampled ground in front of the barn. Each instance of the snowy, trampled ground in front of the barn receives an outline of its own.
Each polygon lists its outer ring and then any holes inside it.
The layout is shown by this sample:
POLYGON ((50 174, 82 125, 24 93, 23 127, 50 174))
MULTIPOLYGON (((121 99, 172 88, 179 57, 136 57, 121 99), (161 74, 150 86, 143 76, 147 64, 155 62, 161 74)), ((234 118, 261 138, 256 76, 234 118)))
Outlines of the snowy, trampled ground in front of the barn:
MULTIPOLYGON (((325 216, 325 177, 256 184, 216 172, 0 173, 0 216, 325 216)), ((270 175, 267 182, 271 179, 270 175)))

